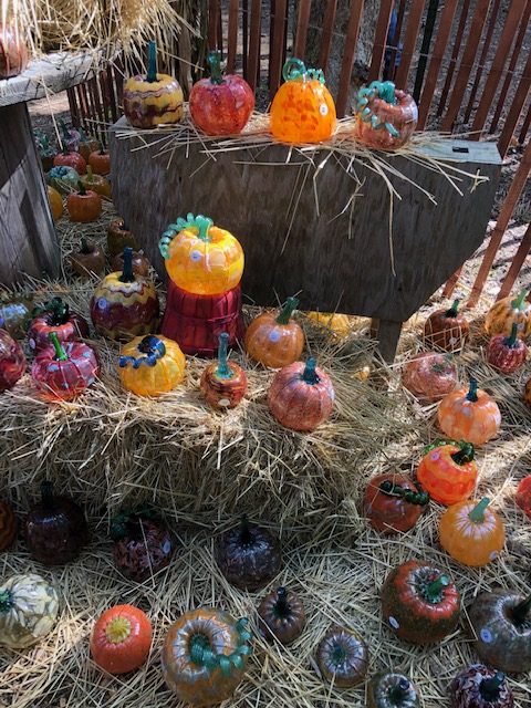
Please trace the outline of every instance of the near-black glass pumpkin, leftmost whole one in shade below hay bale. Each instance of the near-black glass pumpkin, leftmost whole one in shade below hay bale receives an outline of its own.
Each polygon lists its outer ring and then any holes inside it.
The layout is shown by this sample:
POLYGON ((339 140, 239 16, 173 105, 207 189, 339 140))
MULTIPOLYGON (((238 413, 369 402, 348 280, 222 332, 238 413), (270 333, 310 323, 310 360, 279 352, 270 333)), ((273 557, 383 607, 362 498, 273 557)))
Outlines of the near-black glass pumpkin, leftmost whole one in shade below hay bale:
POLYGON ((48 480, 41 485, 41 500, 28 512, 24 533, 31 555, 44 565, 70 563, 88 541, 82 509, 70 497, 55 496, 48 480))

